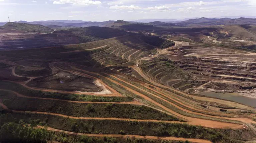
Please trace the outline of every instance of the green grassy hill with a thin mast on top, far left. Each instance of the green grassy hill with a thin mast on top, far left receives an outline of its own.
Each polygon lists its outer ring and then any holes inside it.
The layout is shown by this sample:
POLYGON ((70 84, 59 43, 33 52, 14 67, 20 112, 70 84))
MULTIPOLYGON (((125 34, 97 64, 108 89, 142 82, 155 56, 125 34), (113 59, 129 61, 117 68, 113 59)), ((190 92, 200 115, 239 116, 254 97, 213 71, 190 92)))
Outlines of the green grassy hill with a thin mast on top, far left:
POLYGON ((8 22, 3 26, 3 28, 27 31, 27 32, 38 32, 38 33, 50 33, 53 31, 52 29, 45 27, 43 25, 15 23, 15 22, 8 22))

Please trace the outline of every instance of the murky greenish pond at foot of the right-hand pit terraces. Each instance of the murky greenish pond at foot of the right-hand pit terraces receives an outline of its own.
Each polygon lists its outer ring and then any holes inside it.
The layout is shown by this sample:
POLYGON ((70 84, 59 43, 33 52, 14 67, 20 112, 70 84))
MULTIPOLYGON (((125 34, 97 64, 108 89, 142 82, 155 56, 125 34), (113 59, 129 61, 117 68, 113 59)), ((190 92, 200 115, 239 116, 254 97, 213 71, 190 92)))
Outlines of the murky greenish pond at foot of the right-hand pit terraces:
POLYGON ((244 97, 236 93, 215 93, 215 92, 200 92, 199 95, 205 95, 209 97, 216 97, 219 99, 230 100, 238 103, 242 103, 244 105, 256 107, 256 99, 244 97))

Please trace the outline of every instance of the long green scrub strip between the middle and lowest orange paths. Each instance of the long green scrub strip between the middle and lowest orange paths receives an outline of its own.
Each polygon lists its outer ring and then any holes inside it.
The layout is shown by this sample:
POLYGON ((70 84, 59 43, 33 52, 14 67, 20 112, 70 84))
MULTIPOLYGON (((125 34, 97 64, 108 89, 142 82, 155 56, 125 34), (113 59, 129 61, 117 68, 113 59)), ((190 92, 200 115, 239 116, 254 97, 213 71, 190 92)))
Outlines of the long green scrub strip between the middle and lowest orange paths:
MULTIPOLYGON (((2 116, 2 115, 1 115, 2 116)), ((13 113, 16 120, 31 122, 31 119, 46 123, 49 127, 61 130, 93 134, 119 134, 122 130, 125 134, 151 135, 151 136, 175 136, 184 138, 198 138, 222 143, 238 143, 228 138, 231 130, 211 129, 201 126, 176 123, 133 122, 115 120, 81 120, 70 119, 53 115, 13 113)), ((3 118, 3 120, 6 120, 3 118)), ((9 122, 9 121, 8 121, 9 122)), ((239 131, 238 131, 239 132, 239 131)), ((240 131, 241 132, 241 131, 240 131)))

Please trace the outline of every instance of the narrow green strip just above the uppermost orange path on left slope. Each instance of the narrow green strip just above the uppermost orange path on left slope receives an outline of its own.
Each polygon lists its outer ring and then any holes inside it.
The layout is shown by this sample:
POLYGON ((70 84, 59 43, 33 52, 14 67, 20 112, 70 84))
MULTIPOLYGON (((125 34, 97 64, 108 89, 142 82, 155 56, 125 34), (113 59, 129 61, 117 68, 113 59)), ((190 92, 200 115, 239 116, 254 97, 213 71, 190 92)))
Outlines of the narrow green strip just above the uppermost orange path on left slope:
POLYGON ((53 98, 53 99, 62 99, 62 100, 71 100, 71 101, 129 102, 133 100, 133 98, 125 98, 125 97, 101 97, 101 96, 93 96, 93 95, 75 95, 75 94, 63 94, 63 93, 57 93, 57 92, 43 92, 38 90, 27 89, 20 84, 8 82, 8 81, 0 81, 0 89, 15 91, 25 96, 53 98))

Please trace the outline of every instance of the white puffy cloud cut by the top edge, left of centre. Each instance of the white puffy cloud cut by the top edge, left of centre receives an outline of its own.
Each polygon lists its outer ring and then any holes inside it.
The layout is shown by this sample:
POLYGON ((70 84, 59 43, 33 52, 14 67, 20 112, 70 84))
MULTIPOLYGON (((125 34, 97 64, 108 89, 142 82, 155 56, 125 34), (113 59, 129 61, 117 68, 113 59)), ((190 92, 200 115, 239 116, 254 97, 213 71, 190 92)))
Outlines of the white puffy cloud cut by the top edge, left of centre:
POLYGON ((99 4, 101 4, 101 1, 93 1, 93 0, 55 0, 53 2, 53 4, 99 5, 99 4))

